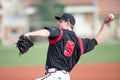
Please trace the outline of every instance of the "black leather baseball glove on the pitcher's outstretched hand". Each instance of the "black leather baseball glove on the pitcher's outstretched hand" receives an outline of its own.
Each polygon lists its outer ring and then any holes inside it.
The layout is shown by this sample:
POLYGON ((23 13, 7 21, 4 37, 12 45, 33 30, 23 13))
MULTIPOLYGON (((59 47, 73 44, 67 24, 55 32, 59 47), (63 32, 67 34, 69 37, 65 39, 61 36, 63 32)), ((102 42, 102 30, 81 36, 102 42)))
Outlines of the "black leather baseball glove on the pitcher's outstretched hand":
POLYGON ((16 47, 19 50, 19 55, 26 53, 33 45, 34 43, 30 40, 30 38, 21 35, 16 43, 16 47))

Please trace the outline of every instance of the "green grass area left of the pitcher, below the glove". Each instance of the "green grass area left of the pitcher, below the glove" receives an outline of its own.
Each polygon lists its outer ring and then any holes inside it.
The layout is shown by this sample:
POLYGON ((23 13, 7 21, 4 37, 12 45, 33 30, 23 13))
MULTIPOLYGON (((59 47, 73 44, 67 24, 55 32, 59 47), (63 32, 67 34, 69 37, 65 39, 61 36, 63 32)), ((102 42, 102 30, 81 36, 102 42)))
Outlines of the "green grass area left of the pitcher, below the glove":
POLYGON ((14 46, 0 47, 0 66, 29 66, 45 64, 48 43, 35 44, 27 53, 19 56, 14 46))

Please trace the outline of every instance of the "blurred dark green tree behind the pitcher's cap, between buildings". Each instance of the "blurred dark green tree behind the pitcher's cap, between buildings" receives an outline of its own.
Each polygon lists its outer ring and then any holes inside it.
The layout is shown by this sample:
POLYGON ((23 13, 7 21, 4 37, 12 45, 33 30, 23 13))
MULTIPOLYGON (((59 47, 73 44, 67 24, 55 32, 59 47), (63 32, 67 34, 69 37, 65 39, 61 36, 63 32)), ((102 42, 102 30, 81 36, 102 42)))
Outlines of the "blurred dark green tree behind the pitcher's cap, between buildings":
POLYGON ((64 5, 56 0, 40 0, 37 9, 41 21, 54 21, 55 15, 63 13, 64 5))

